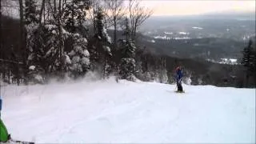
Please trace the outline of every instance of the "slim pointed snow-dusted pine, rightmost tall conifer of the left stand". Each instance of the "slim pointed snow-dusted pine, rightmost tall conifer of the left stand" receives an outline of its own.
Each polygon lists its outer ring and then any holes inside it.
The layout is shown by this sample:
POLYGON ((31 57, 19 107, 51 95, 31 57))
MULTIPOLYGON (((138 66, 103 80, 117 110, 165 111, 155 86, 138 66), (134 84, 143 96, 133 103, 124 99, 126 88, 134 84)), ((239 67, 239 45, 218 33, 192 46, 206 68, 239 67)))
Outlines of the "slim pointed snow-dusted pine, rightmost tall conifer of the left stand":
POLYGON ((130 26, 128 18, 126 18, 126 29, 124 30, 124 35, 126 39, 122 40, 122 59, 120 62, 120 76, 122 79, 127 79, 134 81, 134 70, 135 70, 135 60, 134 53, 136 47, 134 42, 130 37, 130 26))

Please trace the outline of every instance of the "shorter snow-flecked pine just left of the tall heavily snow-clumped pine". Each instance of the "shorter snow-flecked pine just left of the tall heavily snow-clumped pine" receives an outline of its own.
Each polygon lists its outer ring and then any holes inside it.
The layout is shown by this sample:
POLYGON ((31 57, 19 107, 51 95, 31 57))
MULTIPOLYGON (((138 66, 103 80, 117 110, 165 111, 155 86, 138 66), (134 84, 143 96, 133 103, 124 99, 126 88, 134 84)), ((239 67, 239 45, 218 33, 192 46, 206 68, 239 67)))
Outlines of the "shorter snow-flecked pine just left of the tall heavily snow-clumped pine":
POLYGON ((35 66, 34 71, 42 77, 56 73, 61 65, 58 56, 58 33, 58 26, 53 22, 39 26, 34 35, 35 45, 30 49, 28 60, 30 66, 35 66))

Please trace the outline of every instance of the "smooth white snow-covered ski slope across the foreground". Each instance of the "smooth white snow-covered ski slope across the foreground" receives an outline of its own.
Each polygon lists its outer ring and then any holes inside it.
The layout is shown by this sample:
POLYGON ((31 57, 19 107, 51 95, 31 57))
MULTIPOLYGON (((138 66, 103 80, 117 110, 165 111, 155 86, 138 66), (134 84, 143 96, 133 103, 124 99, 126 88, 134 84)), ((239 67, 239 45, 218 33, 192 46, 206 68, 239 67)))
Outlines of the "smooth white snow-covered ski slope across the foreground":
POLYGON ((150 82, 6 86, 13 138, 43 143, 255 142, 255 89, 150 82))

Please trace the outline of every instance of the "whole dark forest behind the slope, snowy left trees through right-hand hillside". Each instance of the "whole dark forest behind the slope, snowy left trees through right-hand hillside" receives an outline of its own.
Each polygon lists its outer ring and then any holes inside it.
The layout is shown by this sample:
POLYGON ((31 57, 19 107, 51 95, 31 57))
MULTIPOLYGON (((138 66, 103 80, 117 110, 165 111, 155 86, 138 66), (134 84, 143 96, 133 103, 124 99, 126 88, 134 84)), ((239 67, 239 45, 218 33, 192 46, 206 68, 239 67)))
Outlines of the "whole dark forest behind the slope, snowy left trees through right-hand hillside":
MULTIPOLYGON (((1 0, 0 7, 6 2, 1 0)), ((174 69, 182 65, 187 84, 255 86, 254 53, 246 67, 154 53, 138 34, 138 27, 153 13, 139 0, 130 0, 127 6, 122 0, 17 2, 18 19, 1 14, 4 82, 44 84, 50 78, 78 79, 93 71, 100 78, 114 74, 131 81, 174 83, 174 69)), ((254 45, 246 47, 253 51, 254 45)))

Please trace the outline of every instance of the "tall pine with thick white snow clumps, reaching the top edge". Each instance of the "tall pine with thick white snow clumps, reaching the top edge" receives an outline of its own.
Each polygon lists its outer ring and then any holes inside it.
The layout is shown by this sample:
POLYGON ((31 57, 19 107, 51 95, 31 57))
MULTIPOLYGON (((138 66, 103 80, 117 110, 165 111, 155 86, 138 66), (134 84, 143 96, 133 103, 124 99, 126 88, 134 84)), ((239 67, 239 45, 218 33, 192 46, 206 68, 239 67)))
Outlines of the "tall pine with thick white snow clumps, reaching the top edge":
POLYGON ((65 54, 65 63, 69 64, 74 78, 86 74, 90 69, 89 52, 87 50, 87 29, 84 25, 86 22, 86 10, 90 7, 89 0, 71 0, 66 2, 62 19, 64 22, 63 29, 66 30, 65 50, 70 53, 65 54), (71 60, 70 60, 71 59, 71 60))

